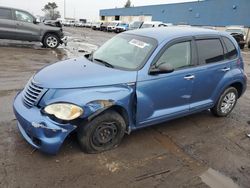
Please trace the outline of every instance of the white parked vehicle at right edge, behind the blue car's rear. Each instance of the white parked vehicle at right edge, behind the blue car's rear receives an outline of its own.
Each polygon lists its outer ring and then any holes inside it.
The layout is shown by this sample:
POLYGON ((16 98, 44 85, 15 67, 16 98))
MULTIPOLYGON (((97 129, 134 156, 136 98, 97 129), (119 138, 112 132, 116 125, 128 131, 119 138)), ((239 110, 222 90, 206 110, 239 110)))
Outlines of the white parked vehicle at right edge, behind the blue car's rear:
POLYGON ((226 32, 232 35, 240 46, 240 49, 244 49, 246 45, 246 32, 243 26, 228 26, 226 32))

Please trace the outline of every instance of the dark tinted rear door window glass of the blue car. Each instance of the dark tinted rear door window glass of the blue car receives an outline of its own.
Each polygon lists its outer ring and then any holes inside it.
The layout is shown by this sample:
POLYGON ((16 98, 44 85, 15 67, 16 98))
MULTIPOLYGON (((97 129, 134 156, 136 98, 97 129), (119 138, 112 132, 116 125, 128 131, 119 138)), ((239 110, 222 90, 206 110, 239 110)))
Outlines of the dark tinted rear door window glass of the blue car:
POLYGON ((224 51, 219 39, 196 40, 199 63, 209 64, 224 60, 224 51))

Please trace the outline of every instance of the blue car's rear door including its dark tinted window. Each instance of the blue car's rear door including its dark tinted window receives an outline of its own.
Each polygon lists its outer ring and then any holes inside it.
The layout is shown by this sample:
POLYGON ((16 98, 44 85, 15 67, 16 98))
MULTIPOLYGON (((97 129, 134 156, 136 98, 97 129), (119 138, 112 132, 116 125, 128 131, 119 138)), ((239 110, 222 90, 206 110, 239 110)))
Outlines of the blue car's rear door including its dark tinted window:
POLYGON ((220 83, 231 69, 231 61, 225 57, 226 49, 220 38, 196 38, 199 66, 195 79, 190 110, 200 111, 214 105, 214 97, 220 83))

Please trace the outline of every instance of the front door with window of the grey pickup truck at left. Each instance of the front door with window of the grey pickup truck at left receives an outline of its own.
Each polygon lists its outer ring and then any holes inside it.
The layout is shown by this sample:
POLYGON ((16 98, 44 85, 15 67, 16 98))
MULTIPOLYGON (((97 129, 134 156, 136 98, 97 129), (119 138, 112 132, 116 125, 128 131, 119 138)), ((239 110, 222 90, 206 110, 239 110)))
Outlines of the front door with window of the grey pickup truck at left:
POLYGON ((40 26, 34 23, 35 18, 31 14, 21 10, 14 10, 14 17, 16 19, 16 37, 18 40, 40 40, 40 26))

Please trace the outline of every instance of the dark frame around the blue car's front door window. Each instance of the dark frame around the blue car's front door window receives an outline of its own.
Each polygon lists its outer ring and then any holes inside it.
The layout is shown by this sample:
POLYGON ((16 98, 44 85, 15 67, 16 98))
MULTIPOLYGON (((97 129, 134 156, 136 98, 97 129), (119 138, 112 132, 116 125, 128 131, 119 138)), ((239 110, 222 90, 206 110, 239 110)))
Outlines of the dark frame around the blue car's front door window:
POLYGON ((161 48, 161 50, 157 53, 157 55, 154 57, 152 63, 150 64, 149 70, 148 70, 148 74, 150 75, 150 70, 151 67, 154 66, 158 60, 161 58, 161 56, 164 54, 164 52, 171 46, 178 44, 178 43, 183 43, 183 42, 190 42, 190 65, 189 67, 183 67, 183 68, 179 68, 179 69, 175 69, 174 72, 176 71, 180 71, 180 70, 184 70, 184 69, 189 69, 189 68, 194 68, 195 66, 197 66, 197 53, 195 50, 195 44, 194 44, 194 37, 193 36, 188 36, 188 37, 180 37, 180 38, 175 38, 173 40, 170 40, 169 42, 167 42, 164 47, 161 48))

